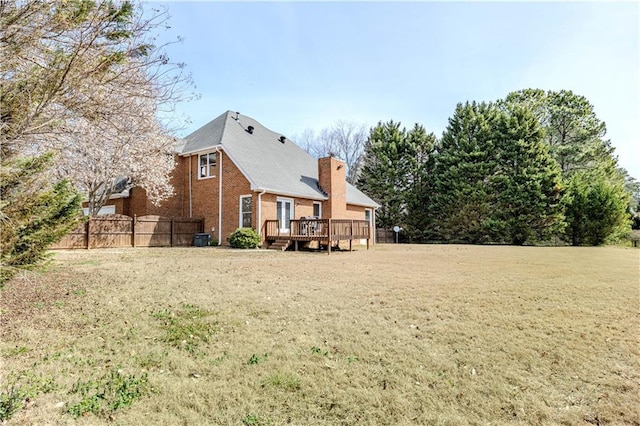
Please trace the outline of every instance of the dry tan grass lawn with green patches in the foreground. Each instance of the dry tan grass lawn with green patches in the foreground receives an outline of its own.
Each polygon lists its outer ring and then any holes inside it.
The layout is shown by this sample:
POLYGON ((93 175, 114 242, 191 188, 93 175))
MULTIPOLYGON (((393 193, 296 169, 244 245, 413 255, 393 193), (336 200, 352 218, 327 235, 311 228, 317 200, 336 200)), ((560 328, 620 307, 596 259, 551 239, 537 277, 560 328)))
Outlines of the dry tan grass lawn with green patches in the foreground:
POLYGON ((1 290, 8 424, 639 425, 640 251, 60 251, 1 290))

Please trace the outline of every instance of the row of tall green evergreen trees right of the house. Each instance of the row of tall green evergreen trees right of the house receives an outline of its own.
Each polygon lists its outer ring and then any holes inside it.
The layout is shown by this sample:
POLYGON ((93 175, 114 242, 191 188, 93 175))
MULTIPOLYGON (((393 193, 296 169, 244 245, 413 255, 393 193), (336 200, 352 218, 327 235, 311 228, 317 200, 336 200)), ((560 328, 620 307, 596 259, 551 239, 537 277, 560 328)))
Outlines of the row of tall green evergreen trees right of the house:
POLYGON ((640 194, 605 134, 585 97, 520 90, 458 104, 441 138, 379 122, 355 183, 411 241, 600 245, 630 232, 640 194))

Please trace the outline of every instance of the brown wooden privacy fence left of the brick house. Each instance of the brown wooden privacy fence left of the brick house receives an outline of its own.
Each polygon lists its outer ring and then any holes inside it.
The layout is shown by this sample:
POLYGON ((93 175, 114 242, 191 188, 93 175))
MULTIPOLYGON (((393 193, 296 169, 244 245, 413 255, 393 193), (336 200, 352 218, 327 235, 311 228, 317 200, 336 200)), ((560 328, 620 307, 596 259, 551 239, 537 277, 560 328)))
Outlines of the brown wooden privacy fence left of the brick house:
POLYGON ((109 214, 90 218, 52 248, 190 246, 203 229, 204 219, 198 218, 109 214))

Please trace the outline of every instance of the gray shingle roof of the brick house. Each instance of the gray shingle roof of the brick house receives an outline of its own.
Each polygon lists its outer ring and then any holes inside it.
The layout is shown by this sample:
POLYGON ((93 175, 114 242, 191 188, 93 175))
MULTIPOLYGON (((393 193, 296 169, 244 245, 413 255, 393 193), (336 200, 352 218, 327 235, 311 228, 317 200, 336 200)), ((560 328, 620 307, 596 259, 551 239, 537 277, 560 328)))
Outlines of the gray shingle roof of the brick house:
MULTIPOLYGON (((318 188, 317 160, 289 139, 282 143, 279 140, 281 136, 246 115, 227 111, 187 136, 180 154, 198 153, 222 146, 227 156, 247 177, 253 190, 315 200, 327 199, 318 188), (253 127, 253 133, 247 131, 249 126, 253 127)), ((349 183, 347 203, 378 206, 349 183)))

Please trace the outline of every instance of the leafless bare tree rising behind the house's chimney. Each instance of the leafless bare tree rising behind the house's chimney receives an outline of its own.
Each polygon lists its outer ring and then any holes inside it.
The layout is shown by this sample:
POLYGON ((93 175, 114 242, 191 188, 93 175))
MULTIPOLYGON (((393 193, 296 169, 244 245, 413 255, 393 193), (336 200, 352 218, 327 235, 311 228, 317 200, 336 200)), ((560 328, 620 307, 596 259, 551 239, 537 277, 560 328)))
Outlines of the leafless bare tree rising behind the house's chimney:
POLYGON ((296 136, 297 143, 310 155, 320 158, 335 155, 347 166, 347 182, 355 184, 362 167, 364 145, 368 131, 364 123, 338 120, 319 135, 306 129, 296 136))

